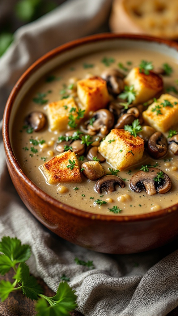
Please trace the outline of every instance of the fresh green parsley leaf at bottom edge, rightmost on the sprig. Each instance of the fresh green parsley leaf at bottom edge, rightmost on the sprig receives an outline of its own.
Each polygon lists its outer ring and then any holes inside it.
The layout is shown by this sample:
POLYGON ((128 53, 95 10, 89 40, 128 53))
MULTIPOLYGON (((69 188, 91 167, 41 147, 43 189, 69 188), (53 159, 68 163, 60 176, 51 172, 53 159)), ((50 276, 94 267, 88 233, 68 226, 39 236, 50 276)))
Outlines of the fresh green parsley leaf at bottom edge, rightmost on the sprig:
POLYGON ((68 312, 77 307, 77 295, 67 282, 59 284, 56 295, 48 297, 40 294, 40 296, 35 305, 35 310, 38 312, 36 316, 67 316, 68 312))

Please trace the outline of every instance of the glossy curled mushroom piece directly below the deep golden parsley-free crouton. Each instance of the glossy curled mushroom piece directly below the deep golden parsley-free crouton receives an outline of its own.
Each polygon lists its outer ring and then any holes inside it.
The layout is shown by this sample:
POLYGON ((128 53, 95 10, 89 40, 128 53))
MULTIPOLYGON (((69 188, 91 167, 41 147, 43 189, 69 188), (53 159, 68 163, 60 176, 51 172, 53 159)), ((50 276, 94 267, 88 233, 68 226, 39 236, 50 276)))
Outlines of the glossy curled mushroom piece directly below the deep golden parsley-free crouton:
POLYGON ((107 135, 114 125, 114 115, 107 109, 101 109, 93 113, 95 121, 93 125, 87 125, 87 132, 95 135, 100 132, 101 136, 107 135))

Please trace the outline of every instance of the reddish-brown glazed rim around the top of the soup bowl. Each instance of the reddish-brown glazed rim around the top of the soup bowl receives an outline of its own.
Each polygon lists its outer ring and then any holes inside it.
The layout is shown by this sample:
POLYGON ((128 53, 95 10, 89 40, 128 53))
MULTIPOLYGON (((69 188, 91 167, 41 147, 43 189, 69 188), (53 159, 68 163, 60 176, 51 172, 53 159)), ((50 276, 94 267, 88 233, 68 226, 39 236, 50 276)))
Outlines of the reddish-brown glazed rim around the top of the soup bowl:
POLYGON ((94 34, 90 36, 86 36, 77 40, 70 41, 66 44, 58 46, 46 53, 42 57, 38 58, 29 68, 22 74, 22 76, 16 82, 14 88, 12 89, 10 96, 7 100, 4 115, 3 115, 3 143, 5 147, 6 159, 9 160, 10 165, 16 170, 18 176, 25 181, 25 183, 35 192, 35 194, 48 202, 51 206, 55 208, 62 209, 67 213, 71 213, 75 216, 79 216, 86 219, 99 220, 102 222, 135 222, 135 221, 145 221, 145 220, 153 220, 160 217, 168 216, 168 214, 176 212, 178 210, 178 203, 172 205, 171 207, 161 209, 154 212, 149 212, 146 214, 136 214, 136 215, 103 215, 103 214, 94 214, 84 210, 76 209, 72 206, 64 204, 53 197, 49 196, 47 193, 42 191, 37 185, 35 185, 32 180, 22 171, 20 165, 18 164, 16 157, 12 151, 12 147, 10 144, 10 135, 9 135, 9 121, 11 109, 13 106, 13 102, 16 99, 16 96, 19 90, 22 88, 23 84, 27 81, 27 79, 38 70, 43 64, 47 63, 52 58, 60 55, 60 53, 64 53, 65 51, 72 50, 75 47, 82 46, 84 44, 94 43, 96 41, 104 41, 104 40, 114 40, 114 39, 126 39, 126 40, 141 40, 146 42, 154 42, 158 44, 164 44, 169 48, 174 48, 178 51, 178 43, 172 40, 165 40, 161 38, 146 36, 146 35, 135 35, 135 34, 116 34, 116 33, 101 33, 94 34))

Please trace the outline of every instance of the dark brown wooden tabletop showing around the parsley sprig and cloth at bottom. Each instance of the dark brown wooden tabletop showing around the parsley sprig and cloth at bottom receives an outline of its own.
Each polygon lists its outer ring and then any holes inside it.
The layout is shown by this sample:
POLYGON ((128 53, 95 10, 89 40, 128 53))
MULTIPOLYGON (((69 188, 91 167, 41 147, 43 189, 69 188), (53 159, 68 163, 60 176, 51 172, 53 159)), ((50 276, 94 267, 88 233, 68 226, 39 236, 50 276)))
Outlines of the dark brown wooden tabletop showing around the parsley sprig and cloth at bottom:
MULTIPOLYGON (((0 280, 5 279, 7 281, 13 282, 11 279, 11 272, 5 276, 0 276, 0 280)), ((43 280, 38 278, 38 282, 44 290, 44 294, 47 296, 53 296, 55 293, 44 283, 43 280)), ((26 298, 22 294, 22 291, 15 291, 9 295, 9 297, 3 302, 0 303, 0 315, 1 316, 35 316, 37 312, 34 309, 34 301, 26 298)), ((71 316, 84 316, 78 311, 70 313, 71 316)), ((99 316, 99 315, 98 315, 99 316)), ((167 316, 178 316, 178 307, 175 308, 172 312, 168 313, 167 316)))

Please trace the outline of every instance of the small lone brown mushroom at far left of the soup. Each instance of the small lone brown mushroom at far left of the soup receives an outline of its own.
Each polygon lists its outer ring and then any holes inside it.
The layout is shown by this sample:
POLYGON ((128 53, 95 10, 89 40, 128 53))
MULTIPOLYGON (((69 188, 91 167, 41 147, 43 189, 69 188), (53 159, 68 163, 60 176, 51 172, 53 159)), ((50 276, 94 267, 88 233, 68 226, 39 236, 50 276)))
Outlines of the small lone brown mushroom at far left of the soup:
POLYGON ((25 124, 33 127, 35 132, 42 130, 42 128, 46 125, 46 123, 47 123, 46 115, 39 111, 31 112, 25 118, 25 124))

